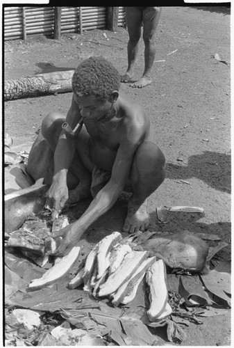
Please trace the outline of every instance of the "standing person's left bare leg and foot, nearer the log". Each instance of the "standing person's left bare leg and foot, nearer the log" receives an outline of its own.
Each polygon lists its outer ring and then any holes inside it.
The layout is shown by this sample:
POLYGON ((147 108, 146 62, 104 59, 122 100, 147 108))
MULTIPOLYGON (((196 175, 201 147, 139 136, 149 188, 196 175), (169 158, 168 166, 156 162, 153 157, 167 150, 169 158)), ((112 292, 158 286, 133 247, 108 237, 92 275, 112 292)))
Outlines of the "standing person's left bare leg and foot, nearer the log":
POLYGON ((128 68, 122 76, 122 82, 128 82, 133 78, 134 65, 138 52, 138 42, 141 35, 142 10, 139 7, 126 7, 126 25, 128 29, 128 68))

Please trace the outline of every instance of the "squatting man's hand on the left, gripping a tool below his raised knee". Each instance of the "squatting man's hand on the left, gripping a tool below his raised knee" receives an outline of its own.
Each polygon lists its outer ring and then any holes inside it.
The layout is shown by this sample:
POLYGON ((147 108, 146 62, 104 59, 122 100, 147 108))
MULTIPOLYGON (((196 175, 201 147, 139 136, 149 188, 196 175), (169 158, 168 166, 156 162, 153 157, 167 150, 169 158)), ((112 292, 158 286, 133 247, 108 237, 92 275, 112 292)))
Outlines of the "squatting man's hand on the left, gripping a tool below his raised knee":
POLYGON ((52 209, 51 220, 54 221, 68 199, 68 189, 65 180, 58 177, 53 177, 51 187, 47 195, 47 205, 52 209))

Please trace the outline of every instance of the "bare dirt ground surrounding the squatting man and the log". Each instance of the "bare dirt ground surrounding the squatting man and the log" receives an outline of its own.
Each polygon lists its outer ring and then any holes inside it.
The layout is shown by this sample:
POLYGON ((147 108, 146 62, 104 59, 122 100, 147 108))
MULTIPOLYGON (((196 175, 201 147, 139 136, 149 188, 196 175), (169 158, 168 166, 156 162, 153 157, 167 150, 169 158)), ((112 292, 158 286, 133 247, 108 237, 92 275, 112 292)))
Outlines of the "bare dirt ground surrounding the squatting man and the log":
MULTIPOLYGON (((219 235, 228 243, 217 254, 220 260, 231 258, 230 21, 230 8, 226 7, 162 8, 153 83, 142 89, 122 84, 128 96, 144 105, 167 159, 165 182, 149 198, 149 230, 219 235), (217 61, 215 54, 228 64, 217 61), (178 213, 168 223, 160 223, 156 207, 163 205, 203 207, 204 214, 178 213)), ((120 27, 115 33, 92 30, 83 35, 64 34, 60 41, 44 35, 6 41, 4 76, 18 79, 72 70, 84 58, 94 55, 105 56, 124 74, 127 42, 128 33, 120 27)), ((144 67, 142 39, 136 65, 137 79, 144 67)), ((44 116, 52 110, 65 114, 71 98, 72 93, 64 93, 5 102, 4 130, 12 136, 14 145, 33 141, 44 116)), ((89 203, 90 200, 84 200, 78 204, 77 217, 89 203)), ((120 231, 126 205, 126 198, 119 198, 110 212, 91 227, 94 231, 120 231)), ((202 322, 185 328, 187 338, 181 345, 231 345, 231 310, 202 322)), ((168 345, 160 329, 156 333, 168 345)))

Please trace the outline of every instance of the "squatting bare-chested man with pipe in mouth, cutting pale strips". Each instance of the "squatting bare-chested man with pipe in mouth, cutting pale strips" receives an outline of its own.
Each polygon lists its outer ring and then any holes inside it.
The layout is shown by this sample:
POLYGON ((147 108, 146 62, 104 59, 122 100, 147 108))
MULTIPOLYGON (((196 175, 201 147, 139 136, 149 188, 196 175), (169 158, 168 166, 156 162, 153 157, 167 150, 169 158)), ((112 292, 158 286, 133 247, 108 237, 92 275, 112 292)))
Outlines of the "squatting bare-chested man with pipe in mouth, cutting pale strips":
POLYGON ((28 173, 49 185, 52 221, 65 203, 93 197, 80 219, 56 232, 62 242, 54 255, 67 253, 126 188, 132 196, 124 232, 149 228, 147 198, 165 179, 165 157, 150 118, 119 87, 119 72, 106 58, 81 62, 72 77, 67 117, 49 113, 29 154, 28 173), (63 122, 74 129, 81 119, 75 136, 62 130, 63 122))

